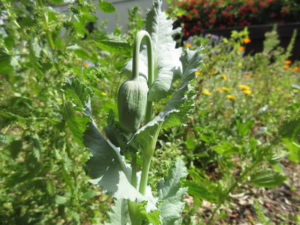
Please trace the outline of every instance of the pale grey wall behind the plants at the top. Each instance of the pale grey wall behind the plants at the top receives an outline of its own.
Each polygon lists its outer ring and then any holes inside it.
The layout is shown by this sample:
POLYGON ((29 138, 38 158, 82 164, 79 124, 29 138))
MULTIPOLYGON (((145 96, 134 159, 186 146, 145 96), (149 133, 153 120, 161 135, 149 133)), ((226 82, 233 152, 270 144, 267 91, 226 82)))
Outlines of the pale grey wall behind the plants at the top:
MULTIPOLYGON (((143 19, 146 18, 146 12, 147 9, 150 9, 152 7, 153 1, 152 0, 106 0, 110 1, 113 3, 113 5, 116 7, 116 13, 104 13, 99 8, 97 7, 97 13, 95 16, 99 18, 97 21, 96 25, 99 25, 99 21, 103 21, 105 19, 108 19, 109 22, 106 25, 106 31, 107 32, 113 32, 115 26, 116 26, 116 19, 117 19, 117 14, 119 14, 118 18, 118 23, 119 26, 122 26, 122 32, 125 34, 128 30, 127 24, 128 24, 128 9, 130 7, 134 7, 135 5, 138 5, 143 12, 141 17, 143 19)), ((98 5, 98 1, 95 1, 95 5, 98 5)), ((163 4, 161 6, 162 10, 166 10, 169 7, 167 0, 163 0, 163 4)), ((68 10, 68 4, 60 5, 60 6, 55 6, 55 10, 65 13, 65 14, 70 14, 68 10)))

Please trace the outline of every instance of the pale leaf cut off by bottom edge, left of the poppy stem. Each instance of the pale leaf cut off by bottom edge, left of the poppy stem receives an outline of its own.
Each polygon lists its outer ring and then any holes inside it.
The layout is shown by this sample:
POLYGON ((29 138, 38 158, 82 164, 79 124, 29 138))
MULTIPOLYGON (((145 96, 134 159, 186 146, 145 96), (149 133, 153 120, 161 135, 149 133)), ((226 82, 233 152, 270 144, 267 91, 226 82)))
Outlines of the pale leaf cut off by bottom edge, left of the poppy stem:
POLYGON ((104 222, 105 225, 130 225, 128 205, 125 199, 114 200, 111 212, 108 212, 110 223, 104 222))

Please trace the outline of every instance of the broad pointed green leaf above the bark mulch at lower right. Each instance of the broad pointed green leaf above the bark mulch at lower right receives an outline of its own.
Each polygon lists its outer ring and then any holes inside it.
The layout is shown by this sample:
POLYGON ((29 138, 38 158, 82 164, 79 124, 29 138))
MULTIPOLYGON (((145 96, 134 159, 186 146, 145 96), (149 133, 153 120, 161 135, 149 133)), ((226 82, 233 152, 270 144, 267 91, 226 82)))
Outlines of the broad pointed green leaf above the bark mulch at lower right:
POLYGON ((287 179, 286 176, 275 172, 274 170, 264 169, 251 176, 250 183, 259 187, 276 187, 287 179))

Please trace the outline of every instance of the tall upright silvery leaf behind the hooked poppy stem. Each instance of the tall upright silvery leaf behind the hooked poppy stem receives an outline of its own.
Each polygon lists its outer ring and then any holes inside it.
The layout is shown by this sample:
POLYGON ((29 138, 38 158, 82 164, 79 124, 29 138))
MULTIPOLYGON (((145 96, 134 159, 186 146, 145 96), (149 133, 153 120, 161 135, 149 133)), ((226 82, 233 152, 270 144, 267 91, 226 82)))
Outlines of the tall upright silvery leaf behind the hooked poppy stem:
MULTIPOLYGON (((166 98, 174 92, 173 82, 180 79, 181 63, 179 61, 182 49, 176 49, 174 36, 180 33, 181 28, 173 30, 172 19, 167 19, 166 13, 161 11, 162 1, 153 3, 151 10, 146 16, 146 31, 150 34, 153 42, 154 58, 154 83, 149 90, 148 100, 156 101, 166 98)), ((148 60, 146 45, 142 46, 140 52, 139 70, 140 80, 147 82, 148 60)), ((125 64, 122 70, 128 77, 132 72, 132 58, 125 64)))

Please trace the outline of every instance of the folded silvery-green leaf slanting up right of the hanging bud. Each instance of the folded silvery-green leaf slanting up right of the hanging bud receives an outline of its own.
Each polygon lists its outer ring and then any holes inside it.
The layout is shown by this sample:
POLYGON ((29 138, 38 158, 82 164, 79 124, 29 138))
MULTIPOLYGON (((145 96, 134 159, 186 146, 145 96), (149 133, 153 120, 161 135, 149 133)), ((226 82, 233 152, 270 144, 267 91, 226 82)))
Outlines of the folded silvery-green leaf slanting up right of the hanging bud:
POLYGON ((159 113, 151 122, 140 128, 130 142, 138 142, 143 151, 151 148, 153 138, 158 137, 160 128, 168 129, 171 126, 184 124, 189 119, 195 104, 196 92, 193 90, 196 80, 196 71, 202 66, 200 47, 196 51, 185 50, 185 54, 180 57, 182 62, 183 76, 178 89, 168 101, 164 110, 159 113))

